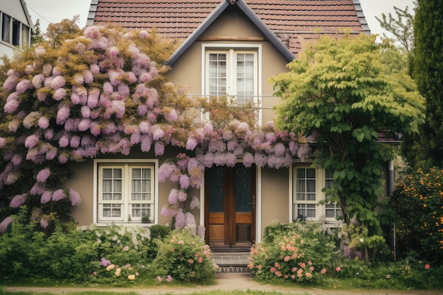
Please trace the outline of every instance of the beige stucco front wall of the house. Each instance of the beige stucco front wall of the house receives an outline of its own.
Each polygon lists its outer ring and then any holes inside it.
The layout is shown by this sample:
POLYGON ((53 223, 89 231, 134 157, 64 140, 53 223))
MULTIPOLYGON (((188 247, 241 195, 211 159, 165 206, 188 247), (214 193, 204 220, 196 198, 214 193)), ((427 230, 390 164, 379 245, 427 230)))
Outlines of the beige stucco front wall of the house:
MULTIPOLYGON (((180 57, 180 59, 173 64, 173 69, 168 73, 169 78, 173 83, 179 86, 185 86, 188 93, 200 95, 202 93, 202 43, 207 45, 217 44, 234 44, 234 45, 261 45, 262 60, 261 60, 261 79, 259 81, 261 93, 263 97, 260 99, 263 105, 262 122, 275 118, 272 107, 280 103, 279 98, 272 96, 272 85, 269 83, 271 76, 287 71, 287 61, 282 55, 275 50, 273 45, 266 40, 248 40, 249 37, 261 38, 263 35, 260 31, 248 21, 238 11, 229 11, 224 16, 213 23, 211 27, 202 35, 202 37, 242 37, 245 40, 217 40, 217 41, 197 41, 192 45, 187 52, 180 57), (259 40, 259 41, 258 41, 259 40)), ((259 63, 260 64, 260 63, 259 63)), ((179 149, 166 149, 165 156, 159 159, 159 166, 166 158, 173 158, 180 152, 179 149)), ((106 156, 107 158, 122 158, 118 155, 106 156)), ((130 156, 125 158, 155 158, 154 154, 133 152, 130 156)), ((74 218, 79 222, 80 226, 89 225, 93 223, 93 161, 88 160, 84 163, 79 163, 71 166, 74 170, 73 177, 67 183, 67 187, 72 187, 77 190, 82 202, 79 207, 74 210, 74 218)), ((262 217, 261 221, 257 221, 260 231, 269 225, 273 219, 278 219, 282 222, 289 221, 289 170, 282 168, 279 170, 263 168, 261 178, 258 179, 257 185, 260 187, 262 204, 260 206, 262 217)), ((177 187, 175 183, 160 183, 159 184, 159 202, 158 207, 158 221, 159 224, 168 224, 171 222, 171 217, 161 216, 161 208, 167 204, 169 192, 173 187, 177 187)), ((200 190, 191 190, 192 197, 200 199, 200 190)), ((202 201, 202 199, 200 199, 202 201)), ((200 220, 200 210, 195 209, 192 212, 195 215, 197 224, 200 220)))

